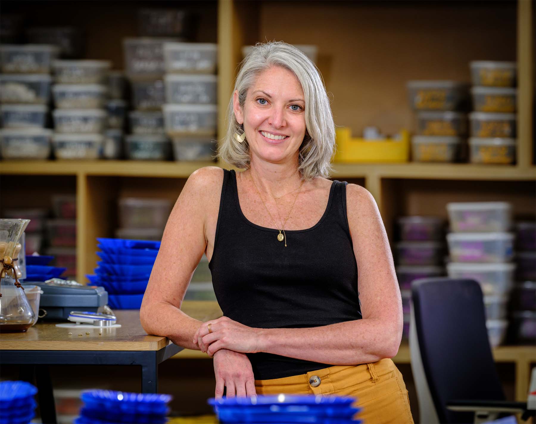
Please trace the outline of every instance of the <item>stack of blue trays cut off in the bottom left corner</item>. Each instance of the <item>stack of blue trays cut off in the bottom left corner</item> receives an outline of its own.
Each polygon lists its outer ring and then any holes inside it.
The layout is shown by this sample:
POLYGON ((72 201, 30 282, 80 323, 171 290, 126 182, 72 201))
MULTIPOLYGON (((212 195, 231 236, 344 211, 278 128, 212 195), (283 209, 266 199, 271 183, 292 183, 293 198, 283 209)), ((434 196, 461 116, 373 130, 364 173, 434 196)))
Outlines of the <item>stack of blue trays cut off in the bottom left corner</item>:
POLYGON ((0 382, 0 423, 28 424, 34 418, 37 389, 25 381, 0 382))

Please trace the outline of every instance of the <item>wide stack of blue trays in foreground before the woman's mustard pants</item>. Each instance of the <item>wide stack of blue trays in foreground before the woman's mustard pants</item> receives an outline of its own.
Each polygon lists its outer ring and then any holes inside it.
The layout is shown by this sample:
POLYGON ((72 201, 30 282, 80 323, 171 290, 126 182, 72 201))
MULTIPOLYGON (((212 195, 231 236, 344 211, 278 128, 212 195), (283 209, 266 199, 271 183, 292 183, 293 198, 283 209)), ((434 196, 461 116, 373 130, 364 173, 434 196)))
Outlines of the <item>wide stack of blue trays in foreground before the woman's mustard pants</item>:
POLYGON ((361 423, 355 398, 322 395, 259 395, 209 399, 222 423, 361 423))

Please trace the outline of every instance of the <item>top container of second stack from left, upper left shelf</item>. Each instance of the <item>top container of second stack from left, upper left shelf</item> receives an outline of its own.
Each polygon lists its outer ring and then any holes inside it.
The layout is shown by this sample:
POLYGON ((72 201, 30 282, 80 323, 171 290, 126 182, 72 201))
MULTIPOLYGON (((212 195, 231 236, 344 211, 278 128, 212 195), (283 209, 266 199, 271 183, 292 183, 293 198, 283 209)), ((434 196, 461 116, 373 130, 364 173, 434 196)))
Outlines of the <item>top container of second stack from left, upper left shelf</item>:
POLYGON ((105 84, 110 62, 94 60, 54 61, 54 80, 59 84, 105 84))

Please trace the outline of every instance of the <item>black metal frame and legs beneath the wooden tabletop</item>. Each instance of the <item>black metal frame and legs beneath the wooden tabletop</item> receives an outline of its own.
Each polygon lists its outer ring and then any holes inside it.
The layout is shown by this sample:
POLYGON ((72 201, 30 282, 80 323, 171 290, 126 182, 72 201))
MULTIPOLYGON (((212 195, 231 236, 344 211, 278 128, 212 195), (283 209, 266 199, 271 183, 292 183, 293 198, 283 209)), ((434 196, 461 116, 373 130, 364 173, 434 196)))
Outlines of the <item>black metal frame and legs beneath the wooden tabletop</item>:
POLYGON ((39 408, 43 424, 55 424, 56 407, 49 365, 135 365, 142 367, 142 393, 158 390, 158 365, 180 352, 182 347, 169 343, 159 351, 0 351, 0 365, 21 367, 21 380, 38 386, 39 408), (30 366, 30 367, 28 367, 30 366))

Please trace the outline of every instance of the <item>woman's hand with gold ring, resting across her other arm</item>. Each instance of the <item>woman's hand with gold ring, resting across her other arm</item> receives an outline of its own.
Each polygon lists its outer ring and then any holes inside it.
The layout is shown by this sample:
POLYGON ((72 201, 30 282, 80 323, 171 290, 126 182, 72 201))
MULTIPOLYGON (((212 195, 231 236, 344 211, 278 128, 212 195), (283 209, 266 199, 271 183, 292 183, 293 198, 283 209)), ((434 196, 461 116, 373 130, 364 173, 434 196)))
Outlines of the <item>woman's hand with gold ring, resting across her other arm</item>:
POLYGON ((193 336, 193 343, 209 356, 219 349, 256 353, 260 352, 259 331, 260 329, 248 327, 224 316, 201 324, 193 336), (212 332, 209 331, 209 324, 212 332))

